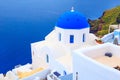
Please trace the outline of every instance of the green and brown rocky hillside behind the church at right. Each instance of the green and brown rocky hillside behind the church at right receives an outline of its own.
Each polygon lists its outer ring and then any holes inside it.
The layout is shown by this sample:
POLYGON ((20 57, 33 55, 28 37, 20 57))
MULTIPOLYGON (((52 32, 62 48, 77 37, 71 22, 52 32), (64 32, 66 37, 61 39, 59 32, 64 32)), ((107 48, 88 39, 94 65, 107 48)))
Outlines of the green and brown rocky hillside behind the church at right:
POLYGON ((104 11, 103 15, 96 20, 88 19, 88 21, 91 26, 90 32, 102 37, 108 33, 109 25, 120 23, 120 6, 104 11))

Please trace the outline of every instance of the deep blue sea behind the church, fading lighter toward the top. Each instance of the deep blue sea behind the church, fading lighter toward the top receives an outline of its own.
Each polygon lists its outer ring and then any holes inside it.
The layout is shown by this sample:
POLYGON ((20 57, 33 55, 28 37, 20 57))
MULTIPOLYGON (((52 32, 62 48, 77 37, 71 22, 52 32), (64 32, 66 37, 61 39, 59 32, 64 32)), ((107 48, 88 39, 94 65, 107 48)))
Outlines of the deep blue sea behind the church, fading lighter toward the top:
POLYGON ((30 43, 44 40, 72 6, 96 19, 118 5, 120 0, 0 0, 0 73, 31 63, 30 43))

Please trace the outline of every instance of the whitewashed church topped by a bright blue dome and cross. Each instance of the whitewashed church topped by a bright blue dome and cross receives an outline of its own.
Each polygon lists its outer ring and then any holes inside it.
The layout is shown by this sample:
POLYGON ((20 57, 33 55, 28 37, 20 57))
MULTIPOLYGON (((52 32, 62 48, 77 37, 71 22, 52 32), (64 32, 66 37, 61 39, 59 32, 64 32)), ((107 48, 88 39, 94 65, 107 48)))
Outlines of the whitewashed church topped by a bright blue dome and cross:
POLYGON ((59 76, 71 74, 72 51, 96 45, 96 37, 89 30, 83 14, 73 9, 63 13, 45 40, 31 44, 33 69, 50 67, 59 76))

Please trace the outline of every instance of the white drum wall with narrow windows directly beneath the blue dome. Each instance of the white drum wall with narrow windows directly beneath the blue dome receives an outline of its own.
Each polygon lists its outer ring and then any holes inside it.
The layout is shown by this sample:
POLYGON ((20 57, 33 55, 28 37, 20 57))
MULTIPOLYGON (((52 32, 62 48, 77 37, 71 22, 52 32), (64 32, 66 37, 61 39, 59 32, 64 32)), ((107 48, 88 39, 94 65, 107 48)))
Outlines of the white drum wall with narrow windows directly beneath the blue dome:
MULTIPOLYGON (((57 34, 61 33, 61 42, 69 44, 70 35, 74 35, 74 44, 82 44, 83 34, 85 33, 85 39, 88 40, 89 28, 84 29, 62 29, 55 27, 57 34)), ((59 38, 59 36, 58 36, 59 38)), ((58 39, 59 40, 59 39, 58 39)))

